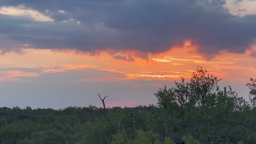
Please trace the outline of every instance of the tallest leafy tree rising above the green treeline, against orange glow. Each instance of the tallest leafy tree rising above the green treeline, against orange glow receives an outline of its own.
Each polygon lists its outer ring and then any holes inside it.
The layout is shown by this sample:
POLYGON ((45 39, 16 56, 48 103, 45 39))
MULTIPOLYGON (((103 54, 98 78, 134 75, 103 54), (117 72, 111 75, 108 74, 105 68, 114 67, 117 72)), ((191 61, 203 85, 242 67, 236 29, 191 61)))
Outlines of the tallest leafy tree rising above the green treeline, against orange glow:
POLYGON ((219 91, 218 79, 210 75, 206 69, 198 67, 193 73, 189 83, 182 77, 181 82, 174 82, 175 87, 167 90, 166 86, 159 89, 155 96, 158 100, 158 106, 167 109, 168 107, 185 106, 206 106, 206 102, 215 103, 216 92, 219 91))

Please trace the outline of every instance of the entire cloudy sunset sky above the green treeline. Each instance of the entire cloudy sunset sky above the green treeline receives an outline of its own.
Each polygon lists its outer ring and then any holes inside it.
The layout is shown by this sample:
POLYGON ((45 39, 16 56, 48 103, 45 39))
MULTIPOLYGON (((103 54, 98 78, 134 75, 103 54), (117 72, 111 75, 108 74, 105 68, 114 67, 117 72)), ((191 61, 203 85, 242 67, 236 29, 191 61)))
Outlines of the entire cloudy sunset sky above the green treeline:
POLYGON ((156 104, 202 66, 247 99, 256 0, 0 0, 0 107, 156 104))

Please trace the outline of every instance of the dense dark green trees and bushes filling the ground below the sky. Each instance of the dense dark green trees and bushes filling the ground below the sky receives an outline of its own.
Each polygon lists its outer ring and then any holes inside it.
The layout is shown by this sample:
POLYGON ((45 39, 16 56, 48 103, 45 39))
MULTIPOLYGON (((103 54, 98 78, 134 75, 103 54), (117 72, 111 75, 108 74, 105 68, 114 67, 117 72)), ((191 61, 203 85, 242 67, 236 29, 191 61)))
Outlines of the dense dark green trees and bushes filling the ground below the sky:
MULTIPOLYGON (((155 93, 157 106, 0 108, 0 143, 256 143, 256 79, 250 100, 203 68, 155 93)), ((105 98, 100 98, 105 104, 105 98)))

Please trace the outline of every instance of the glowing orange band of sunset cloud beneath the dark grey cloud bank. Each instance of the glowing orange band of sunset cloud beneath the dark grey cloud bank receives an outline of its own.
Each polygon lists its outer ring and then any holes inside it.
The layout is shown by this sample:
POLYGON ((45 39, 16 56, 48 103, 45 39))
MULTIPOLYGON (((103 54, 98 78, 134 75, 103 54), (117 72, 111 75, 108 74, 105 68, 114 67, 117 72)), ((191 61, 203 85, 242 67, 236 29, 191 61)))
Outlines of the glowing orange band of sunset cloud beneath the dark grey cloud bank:
POLYGON ((60 73, 69 70, 93 69, 118 74, 116 77, 83 78, 77 81, 136 81, 162 80, 177 81, 181 76, 190 78, 191 73, 202 66, 210 73, 228 81, 247 82, 249 77, 255 77, 255 60, 250 57, 254 52, 244 54, 220 52, 211 60, 205 60, 204 55, 197 53, 197 46, 186 41, 183 46, 172 47, 167 52, 151 54, 137 51, 114 50, 97 51, 90 55, 77 51, 26 50, 26 57, 17 53, 6 53, 0 57, 0 68, 39 68, 42 73, 60 73), (132 55, 134 61, 127 62, 113 58, 113 55, 132 55), (240 79, 240 80, 238 80, 240 79), (242 79, 242 80, 241 80, 242 79))

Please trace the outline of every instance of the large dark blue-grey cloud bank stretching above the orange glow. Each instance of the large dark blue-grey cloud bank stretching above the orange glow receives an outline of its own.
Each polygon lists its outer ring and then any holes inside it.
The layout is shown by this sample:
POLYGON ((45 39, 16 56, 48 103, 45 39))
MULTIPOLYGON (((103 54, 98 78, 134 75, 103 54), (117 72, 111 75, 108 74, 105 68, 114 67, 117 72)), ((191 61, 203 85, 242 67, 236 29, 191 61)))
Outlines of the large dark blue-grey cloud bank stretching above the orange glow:
POLYGON ((38 22, 0 15, 0 33, 6 41, 38 49, 156 53, 192 39, 198 52, 207 55, 221 50, 243 53, 255 43, 256 15, 237 17, 223 4, 221 0, 0 0, 2 6, 24 5, 54 19, 38 22))

